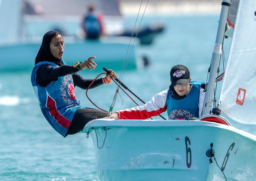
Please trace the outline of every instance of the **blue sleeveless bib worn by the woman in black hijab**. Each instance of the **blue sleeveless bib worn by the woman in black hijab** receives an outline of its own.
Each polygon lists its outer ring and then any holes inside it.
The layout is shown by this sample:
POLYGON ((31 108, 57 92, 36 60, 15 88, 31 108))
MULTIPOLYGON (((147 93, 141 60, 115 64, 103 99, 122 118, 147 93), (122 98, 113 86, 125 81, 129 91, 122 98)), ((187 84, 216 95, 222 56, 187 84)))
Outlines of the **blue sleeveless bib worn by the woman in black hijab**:
POLYGON ((32 70, 31 83, 44 117, 58 133, 66 137, 76 109, 81 108, 76 101, 72 74, 58 77, 57 81, 41 87, 36 83, 36 71, 42 64, 57 66, 52 62, 39 62, 32 70))

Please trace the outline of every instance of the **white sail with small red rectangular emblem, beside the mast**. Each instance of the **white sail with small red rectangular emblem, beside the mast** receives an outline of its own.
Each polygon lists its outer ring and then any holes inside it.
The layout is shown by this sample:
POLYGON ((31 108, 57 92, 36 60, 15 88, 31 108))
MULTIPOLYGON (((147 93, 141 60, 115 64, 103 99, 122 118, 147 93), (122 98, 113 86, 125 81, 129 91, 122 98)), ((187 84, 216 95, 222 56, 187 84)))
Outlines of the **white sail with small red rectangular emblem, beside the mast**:
POLYGON ((256 1, 240 0, 219 108, 231 119, 256 124, 256 1))

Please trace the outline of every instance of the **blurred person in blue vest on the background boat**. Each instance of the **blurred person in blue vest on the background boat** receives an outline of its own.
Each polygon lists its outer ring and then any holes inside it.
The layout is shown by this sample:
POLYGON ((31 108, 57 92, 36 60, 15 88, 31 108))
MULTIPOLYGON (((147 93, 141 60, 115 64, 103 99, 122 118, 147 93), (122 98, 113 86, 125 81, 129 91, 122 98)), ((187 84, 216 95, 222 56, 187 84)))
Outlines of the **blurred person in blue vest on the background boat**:
POLYGON ((82 27, 86 33, 86 38, 88 39, 97 39, 103 34, 102 26, 102 14, 96 13, 93 4, 90 4, 88 7, 88 13, 85 15, 82 27))

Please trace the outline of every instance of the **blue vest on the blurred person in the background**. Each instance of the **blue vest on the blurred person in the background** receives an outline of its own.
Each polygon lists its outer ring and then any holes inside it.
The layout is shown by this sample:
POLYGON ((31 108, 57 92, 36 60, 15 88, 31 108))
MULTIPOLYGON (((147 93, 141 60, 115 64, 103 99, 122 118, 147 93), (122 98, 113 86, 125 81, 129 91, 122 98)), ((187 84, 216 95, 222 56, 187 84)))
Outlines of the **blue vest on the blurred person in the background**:
POLYGON ((100 22, 96 13, 89 13, 84 20, 84 27, 88 38, 97 38, 100 36, 100 22))

